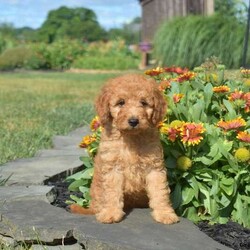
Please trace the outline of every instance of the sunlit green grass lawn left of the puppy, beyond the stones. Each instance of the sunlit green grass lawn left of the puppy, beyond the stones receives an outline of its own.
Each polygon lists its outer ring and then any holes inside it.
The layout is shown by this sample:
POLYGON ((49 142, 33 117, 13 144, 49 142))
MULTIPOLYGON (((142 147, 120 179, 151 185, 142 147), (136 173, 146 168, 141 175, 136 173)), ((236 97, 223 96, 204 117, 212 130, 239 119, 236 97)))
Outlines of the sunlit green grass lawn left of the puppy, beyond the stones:
MULTIPOLYGON (((100 87, 114 74, 0 73, 0 164, 32 157, 90 121, 100 87)), ((79 138, 80 142, 81 138, 79 138)))

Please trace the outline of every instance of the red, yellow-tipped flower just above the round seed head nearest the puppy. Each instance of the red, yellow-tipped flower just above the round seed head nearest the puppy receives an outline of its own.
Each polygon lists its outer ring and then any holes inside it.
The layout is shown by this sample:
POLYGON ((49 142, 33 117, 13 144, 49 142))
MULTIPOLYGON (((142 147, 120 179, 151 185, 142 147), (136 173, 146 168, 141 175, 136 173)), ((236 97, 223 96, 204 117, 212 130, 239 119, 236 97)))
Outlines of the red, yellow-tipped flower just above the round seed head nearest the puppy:
POLYGON ((201 134, 205 132, 202 123, 186 122, 181 128, 181 141, 188 146, 197 145, 203 139, 201 134))

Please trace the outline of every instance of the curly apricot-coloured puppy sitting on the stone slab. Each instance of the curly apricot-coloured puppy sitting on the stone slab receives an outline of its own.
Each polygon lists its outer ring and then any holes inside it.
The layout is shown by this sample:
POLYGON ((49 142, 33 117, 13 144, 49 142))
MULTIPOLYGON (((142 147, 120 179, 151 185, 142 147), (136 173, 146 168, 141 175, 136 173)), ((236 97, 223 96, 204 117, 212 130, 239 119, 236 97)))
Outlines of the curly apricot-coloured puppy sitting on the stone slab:
POLYGON ((122 220, 124 210, 152 208, 157 222, 178 222, 170 198, 157 124, 166 103, 154 80, 130 74, 112 79, 96 101, 103 126, 94 162, 89 209, 102 223, 122 220))

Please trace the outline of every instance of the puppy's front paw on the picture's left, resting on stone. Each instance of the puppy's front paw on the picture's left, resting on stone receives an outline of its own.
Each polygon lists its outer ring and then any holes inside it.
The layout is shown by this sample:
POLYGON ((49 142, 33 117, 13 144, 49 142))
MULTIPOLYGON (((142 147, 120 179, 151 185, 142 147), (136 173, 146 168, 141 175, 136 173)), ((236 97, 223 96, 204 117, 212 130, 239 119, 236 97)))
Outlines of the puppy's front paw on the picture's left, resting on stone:
POLYGON ((115 223, 121 221, 124 214, 120 209, 103 209, 96 214, 96 219, 101 223, 115 223))

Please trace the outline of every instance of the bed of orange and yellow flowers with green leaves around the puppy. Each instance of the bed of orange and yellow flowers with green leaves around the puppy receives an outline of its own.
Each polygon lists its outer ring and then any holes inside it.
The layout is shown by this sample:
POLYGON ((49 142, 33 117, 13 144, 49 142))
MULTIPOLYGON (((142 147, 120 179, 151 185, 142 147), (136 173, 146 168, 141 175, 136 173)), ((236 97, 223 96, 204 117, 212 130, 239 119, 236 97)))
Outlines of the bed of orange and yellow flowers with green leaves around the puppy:
MULTIPOLYGON (((232 220, 250 227, 250 92, 244 84, 250 71, 230 80, 224 70, 211 58, 193 71, 158 67, 145 74, 168 102, 158 127, 176 212, 194 222, 232 220)), ((86 168, 69 177, 71 190, 84 191, 82 198, 72 197, 80 205, 88 204, 86 180, 101 134, 97 117, 91 127, 92 139, 82 144, 89 153, 82 158, 86 168)))

